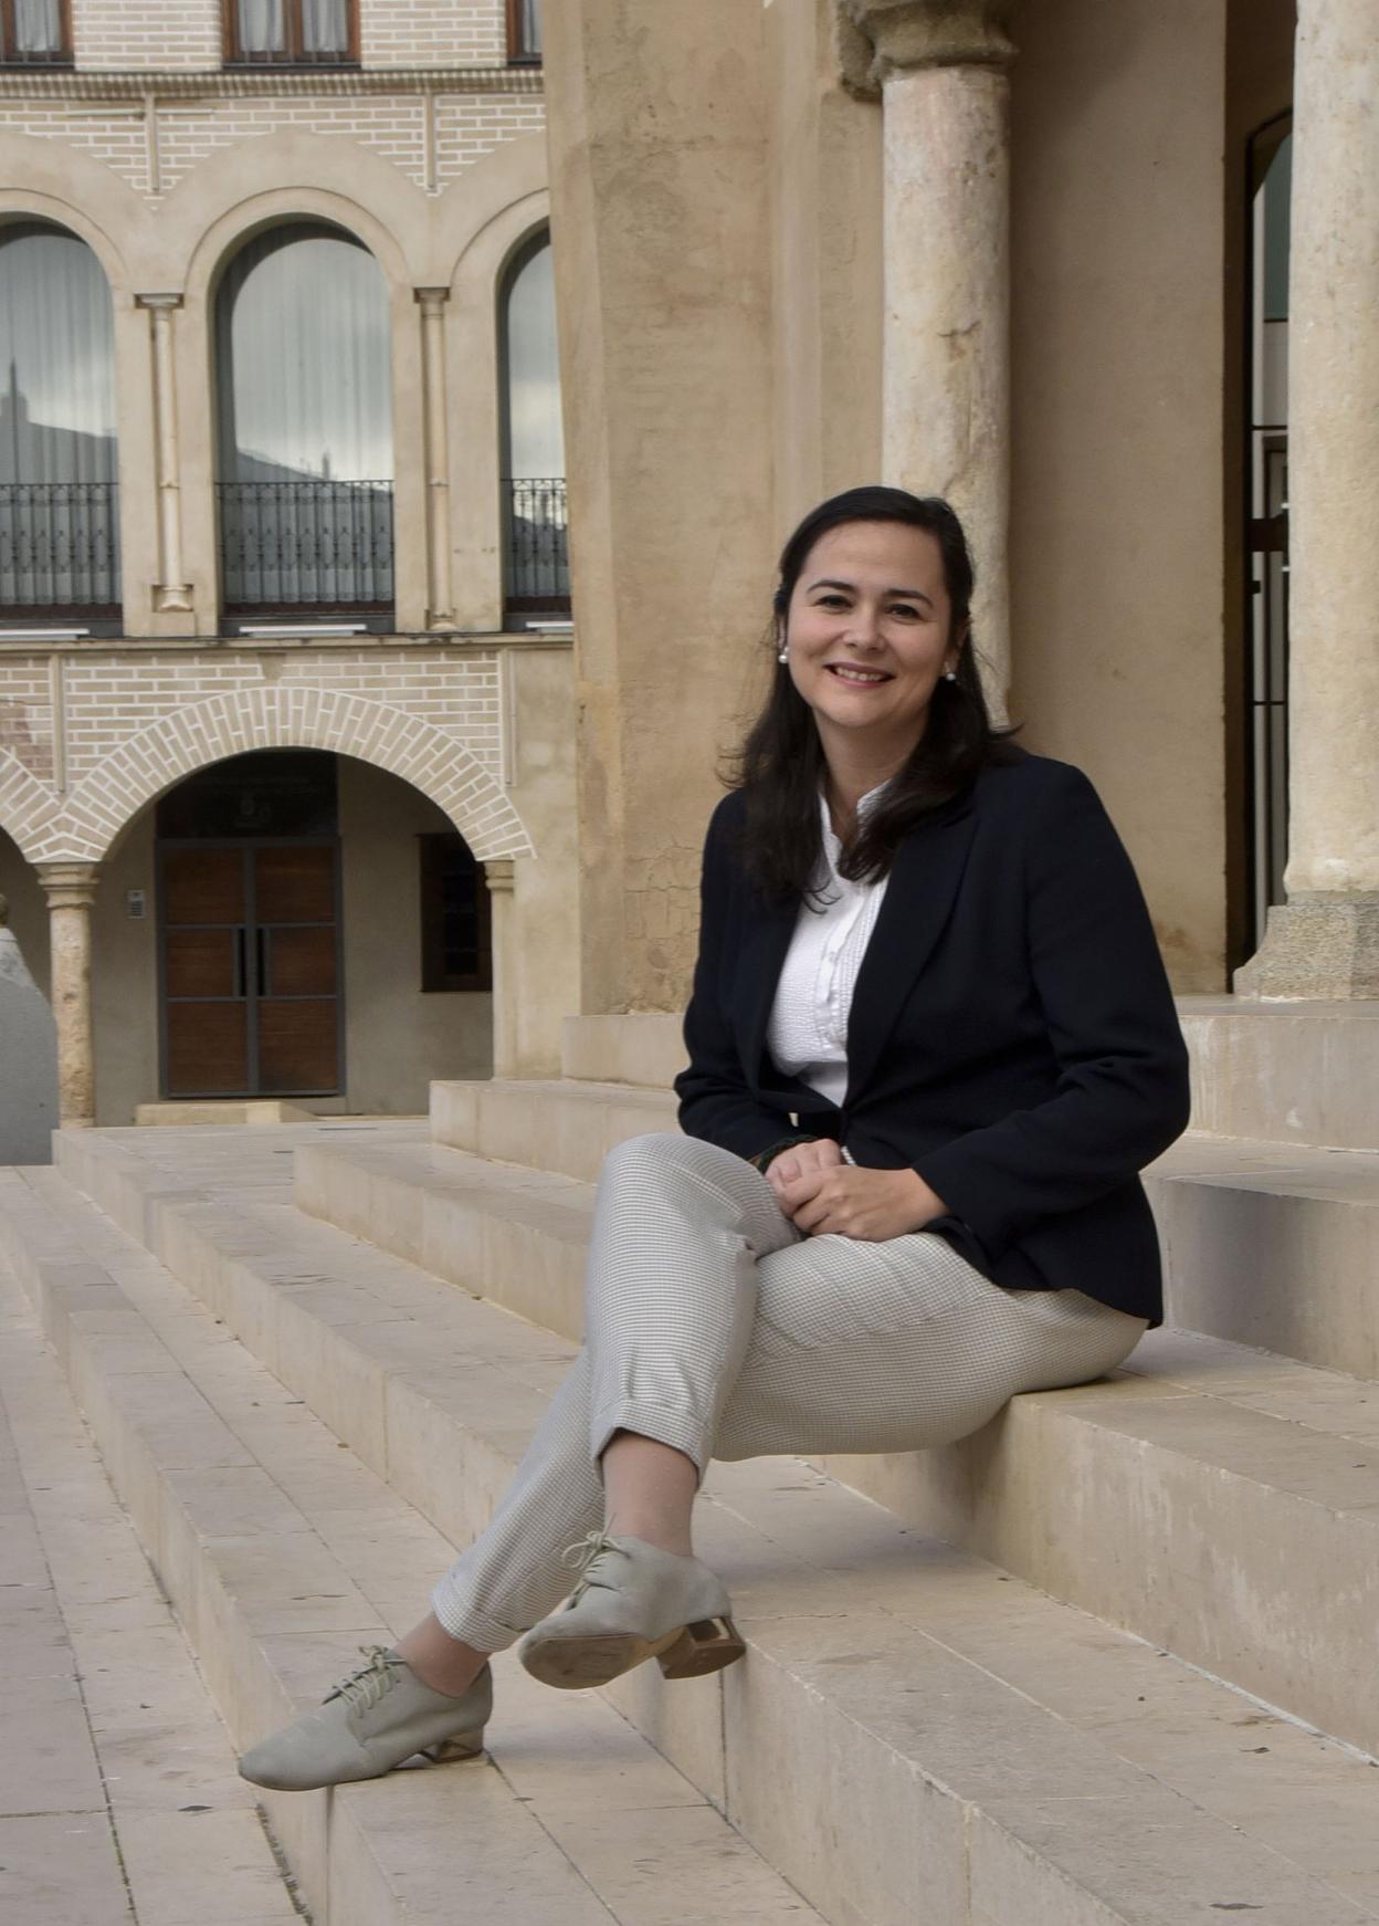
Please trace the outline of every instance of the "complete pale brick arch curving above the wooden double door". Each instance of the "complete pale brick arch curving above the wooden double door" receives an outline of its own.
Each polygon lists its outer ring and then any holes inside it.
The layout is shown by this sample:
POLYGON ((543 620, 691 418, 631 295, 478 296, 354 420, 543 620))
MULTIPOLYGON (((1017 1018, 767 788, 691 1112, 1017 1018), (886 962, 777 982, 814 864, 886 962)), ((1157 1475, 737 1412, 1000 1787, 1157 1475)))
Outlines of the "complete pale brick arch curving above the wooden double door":
POLYGON ((533 853, 508 797, 453 736, 391 703, 293 684, 212 695, 150 722, 83 776, 25 855, 44 863, 98 863, 164 790, 250 749, 352 755, 428 795, 481 863, 533 853))

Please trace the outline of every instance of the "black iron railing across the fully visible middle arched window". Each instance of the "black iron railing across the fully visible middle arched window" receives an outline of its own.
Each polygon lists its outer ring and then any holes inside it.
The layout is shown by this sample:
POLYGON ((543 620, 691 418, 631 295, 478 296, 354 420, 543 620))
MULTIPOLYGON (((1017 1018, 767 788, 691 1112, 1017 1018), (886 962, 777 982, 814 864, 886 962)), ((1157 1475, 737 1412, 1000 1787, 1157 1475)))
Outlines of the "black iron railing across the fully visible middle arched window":
POLYGON ((227 614, 393 607, 391 482, 221 482, 227 614))

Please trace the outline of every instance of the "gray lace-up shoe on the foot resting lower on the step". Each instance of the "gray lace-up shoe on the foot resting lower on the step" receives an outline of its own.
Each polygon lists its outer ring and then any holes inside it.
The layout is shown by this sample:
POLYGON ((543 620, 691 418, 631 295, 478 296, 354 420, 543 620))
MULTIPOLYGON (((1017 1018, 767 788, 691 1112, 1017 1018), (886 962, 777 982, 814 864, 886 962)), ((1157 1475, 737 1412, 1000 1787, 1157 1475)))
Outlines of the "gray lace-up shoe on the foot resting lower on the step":
POLYGON ((366 1664, 314 1710, 250 1747, 239 1774, 254 1785, 304 1793, 347 1780, 377 1780, 422 1753, 433 1764, 474 1758, 493 1710, 487 1666, 468 1691, 424 1685, 404 1658, 383 1645, 360 1647, 366 1664))

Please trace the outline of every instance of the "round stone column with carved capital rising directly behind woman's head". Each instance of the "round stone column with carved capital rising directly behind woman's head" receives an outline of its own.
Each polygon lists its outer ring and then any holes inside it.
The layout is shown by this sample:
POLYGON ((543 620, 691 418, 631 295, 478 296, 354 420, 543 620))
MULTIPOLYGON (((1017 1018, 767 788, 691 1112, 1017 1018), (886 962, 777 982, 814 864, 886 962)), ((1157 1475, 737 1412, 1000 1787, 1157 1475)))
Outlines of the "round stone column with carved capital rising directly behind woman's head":
POLYGON ((986 697, 1009 688, 1011 0, 842 0, 884 102, 884 480, 957 508, 986 697))

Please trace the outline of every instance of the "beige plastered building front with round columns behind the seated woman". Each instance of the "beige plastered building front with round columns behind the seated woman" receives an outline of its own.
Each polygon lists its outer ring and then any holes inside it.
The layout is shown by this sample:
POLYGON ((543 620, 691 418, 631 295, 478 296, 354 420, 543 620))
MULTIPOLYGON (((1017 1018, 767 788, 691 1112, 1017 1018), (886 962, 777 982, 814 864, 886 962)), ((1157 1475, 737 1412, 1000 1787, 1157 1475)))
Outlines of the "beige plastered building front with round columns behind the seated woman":
POLYGON ((553 10, 585 1009, 684 998, 772 559, 878 478, 963 512, 992 703, 1098 784, 1175 988, 1379 996, 1373 25, 553 10))

